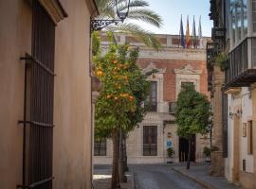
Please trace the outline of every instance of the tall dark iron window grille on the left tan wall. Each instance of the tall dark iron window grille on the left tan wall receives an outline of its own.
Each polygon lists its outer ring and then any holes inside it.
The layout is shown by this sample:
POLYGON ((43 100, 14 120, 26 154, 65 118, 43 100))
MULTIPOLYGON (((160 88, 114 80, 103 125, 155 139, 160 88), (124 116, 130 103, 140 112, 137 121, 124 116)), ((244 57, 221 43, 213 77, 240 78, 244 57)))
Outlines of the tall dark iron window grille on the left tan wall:
POLYGON ((23 184, 17 188, 51 189, 55 25, 38 0, 32 7, 32 55, 26 63, 23 184))

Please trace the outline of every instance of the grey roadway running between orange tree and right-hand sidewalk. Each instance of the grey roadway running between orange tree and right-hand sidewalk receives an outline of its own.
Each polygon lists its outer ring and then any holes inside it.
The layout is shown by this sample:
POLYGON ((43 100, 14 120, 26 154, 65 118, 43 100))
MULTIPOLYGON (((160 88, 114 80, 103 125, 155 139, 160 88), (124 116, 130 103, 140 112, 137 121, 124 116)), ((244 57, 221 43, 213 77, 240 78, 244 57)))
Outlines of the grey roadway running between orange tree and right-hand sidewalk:
POLYGON ((203 189, 196 182, 163 165, 130 165, 137 189, 203 189))

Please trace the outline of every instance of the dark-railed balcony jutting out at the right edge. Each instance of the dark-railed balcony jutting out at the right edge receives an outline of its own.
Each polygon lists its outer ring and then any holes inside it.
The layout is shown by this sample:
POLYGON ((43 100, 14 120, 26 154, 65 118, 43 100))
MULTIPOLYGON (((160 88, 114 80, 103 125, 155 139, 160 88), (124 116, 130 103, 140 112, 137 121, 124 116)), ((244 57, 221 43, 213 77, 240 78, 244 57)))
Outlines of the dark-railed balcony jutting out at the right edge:
POLYGON ((229 53, 226 90, 256 82, 256 38, 247 38, 229 53))

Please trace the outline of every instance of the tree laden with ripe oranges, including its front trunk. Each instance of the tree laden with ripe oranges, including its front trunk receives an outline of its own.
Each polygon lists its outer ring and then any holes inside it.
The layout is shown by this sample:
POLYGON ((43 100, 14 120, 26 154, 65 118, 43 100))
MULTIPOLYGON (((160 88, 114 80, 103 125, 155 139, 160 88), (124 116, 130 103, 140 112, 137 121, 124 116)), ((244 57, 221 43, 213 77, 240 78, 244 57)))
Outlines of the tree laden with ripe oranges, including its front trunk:
POLYGON ((116 188, 119 185, 119 131, 127 133, 142 120, 141 103, 147 94, 148 82, 137 67, 137 48, 115 43, 113 34, 108 33, 109 48, 102 55, 98 32, 92 34, 92 41, 94 72, 102 84, 95 107, 95 136, 112 138, 111 187, 116 188))

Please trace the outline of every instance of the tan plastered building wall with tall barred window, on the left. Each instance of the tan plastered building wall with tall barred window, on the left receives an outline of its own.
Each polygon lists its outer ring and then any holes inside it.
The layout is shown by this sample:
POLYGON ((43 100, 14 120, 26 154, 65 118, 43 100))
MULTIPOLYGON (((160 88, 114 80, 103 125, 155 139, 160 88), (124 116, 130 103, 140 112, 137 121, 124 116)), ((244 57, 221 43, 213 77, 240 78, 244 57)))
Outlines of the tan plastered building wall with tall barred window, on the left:
POLYGON ((91 188, 93 0, 0 2, 0 188, 91 188))

